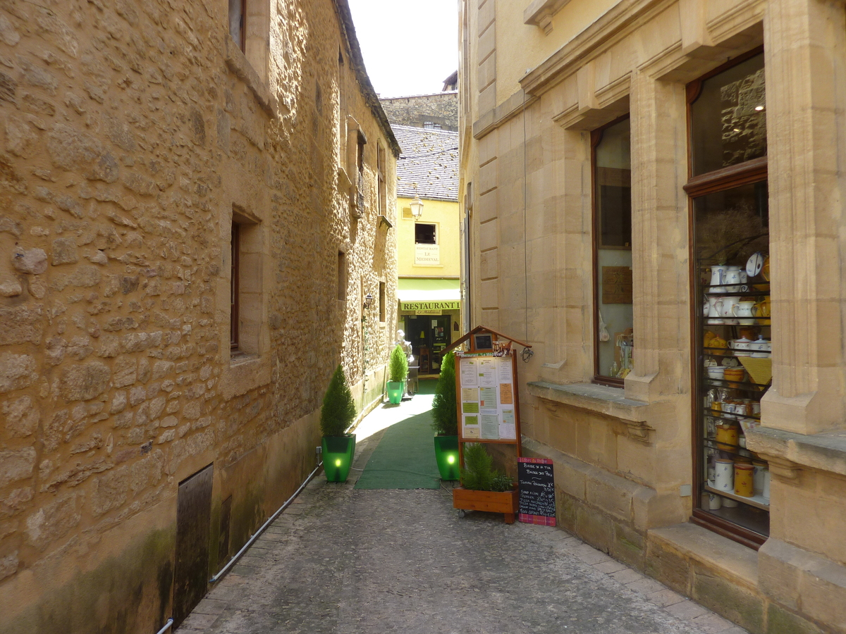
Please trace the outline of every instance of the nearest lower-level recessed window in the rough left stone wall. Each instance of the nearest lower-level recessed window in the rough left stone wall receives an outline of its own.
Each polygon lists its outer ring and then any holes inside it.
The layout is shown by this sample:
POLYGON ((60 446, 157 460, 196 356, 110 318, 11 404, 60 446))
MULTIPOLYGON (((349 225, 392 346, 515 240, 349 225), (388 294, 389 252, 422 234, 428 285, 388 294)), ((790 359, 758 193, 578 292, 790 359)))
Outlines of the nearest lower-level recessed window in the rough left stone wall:
POLYGON ((229 347, 233 353, 259 353, 261 331, 261 225, 239 210, 232 213, 229 279, 229 347))

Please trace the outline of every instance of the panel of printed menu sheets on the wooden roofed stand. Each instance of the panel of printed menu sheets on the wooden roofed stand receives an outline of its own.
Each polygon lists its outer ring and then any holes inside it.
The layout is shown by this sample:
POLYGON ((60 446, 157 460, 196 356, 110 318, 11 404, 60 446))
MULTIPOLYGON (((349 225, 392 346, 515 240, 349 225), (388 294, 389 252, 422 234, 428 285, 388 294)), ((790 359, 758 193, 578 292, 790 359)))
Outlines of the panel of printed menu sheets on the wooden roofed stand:
POLYGON ((515 440, 512 357, 462 357, 461 435, 480 440, 515 440))

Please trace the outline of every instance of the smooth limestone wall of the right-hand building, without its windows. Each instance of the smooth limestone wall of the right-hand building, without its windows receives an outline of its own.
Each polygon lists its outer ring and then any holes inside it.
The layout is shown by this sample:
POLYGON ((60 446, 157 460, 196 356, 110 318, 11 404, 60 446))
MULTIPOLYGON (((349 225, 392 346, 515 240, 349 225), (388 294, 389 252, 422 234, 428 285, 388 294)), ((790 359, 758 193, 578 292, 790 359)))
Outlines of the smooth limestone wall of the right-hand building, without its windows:
POLYGON ((529 30, 526 3, 460 6, 471 324, 533 345, 520 368, 524 447, 555 461, 559 522, 664 580, 673 572, 650 544, 675 529, 658 527, 700 530, 686 86, 763 46, 773 373, 747 448, 772 473, 770 534, 743 582, 713 547, 727 541, 719 527, 694 540, 685 556, 720 579, 722 607, 695 582, 671 585, 750 631, 846 631, 843 4, 538 2, 551 22, 529 30), (590 19, 566 22, 576 15, 590 19), (591 385, 590 133, 626 113, 636 343, 621 390, 591 385), (757 620, 726 608, 751 594, 757 620))

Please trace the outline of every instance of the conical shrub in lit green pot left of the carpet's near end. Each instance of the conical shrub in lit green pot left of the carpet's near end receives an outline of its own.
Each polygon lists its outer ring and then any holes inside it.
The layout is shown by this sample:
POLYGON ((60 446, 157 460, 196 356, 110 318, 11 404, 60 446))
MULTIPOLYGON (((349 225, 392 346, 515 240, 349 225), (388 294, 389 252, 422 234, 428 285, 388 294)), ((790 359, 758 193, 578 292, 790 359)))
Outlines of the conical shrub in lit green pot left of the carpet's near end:
POLYGON ((320 429, 323 435, 323 470, 327 482, 346 482, 349 467, 355 455, 355 435, 347 429, 355 420, 353 392, 340 365, 332 374, 323 407, 320 411, 320 429))

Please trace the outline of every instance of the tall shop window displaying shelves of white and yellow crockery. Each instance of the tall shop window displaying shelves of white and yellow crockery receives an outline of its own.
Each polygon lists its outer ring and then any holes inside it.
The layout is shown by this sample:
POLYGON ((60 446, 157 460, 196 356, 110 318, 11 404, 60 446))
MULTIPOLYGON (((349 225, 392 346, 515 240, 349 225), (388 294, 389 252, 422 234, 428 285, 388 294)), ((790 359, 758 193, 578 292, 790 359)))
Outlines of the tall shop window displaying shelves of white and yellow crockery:
POLYGON ((771 383, 766 83, 760 51, 688 85, 696 336, 693 521, 757 547, 769 471, 745 449, 771 383))

